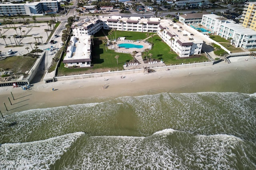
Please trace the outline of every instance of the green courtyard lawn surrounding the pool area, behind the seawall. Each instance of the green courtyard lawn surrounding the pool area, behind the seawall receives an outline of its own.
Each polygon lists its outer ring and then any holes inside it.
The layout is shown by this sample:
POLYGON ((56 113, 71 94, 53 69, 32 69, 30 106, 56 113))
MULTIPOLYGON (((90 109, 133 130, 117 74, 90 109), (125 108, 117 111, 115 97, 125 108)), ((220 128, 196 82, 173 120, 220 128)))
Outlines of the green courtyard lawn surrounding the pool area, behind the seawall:
MULTIPOLYGON (((108 32, 110 30, 103 30, 105 35, 108 35, 108 32)), ((104 44, 102 44, 102 41, 105 39, 104 33, 102 31, 99 31, 94 35, 94 45, 92 47, 92 64, 93 66, 90 68, 65 68, 64 63, 61 63, 60 66, 58 66, 57 70, 57 76, 63 76, 63 75, 72 75, 72 74, 84 74, 84 73, 95 73, 95 72, 107 72, 108 70, 116 71, 116 70, 123 70, 124 63, 129 62, 132 60, 132 55, 127 53, 115 53, 114 50, 110 50, 106 47, 104 44), (118 58, 118 64, 115 59, 115 56, 119 55, 118 58)), ((131 32, 131 31, 116 31, 112 34, 114 38, 118 37, 126 37, 126 39, 130 40, 137 40, 137 39, 146 39, 147 32, 131 32)), ((158 35, 155 35, 156 33, 149 33, 153 36, 153 48, 148 52, 152 53, 152 59, 156 60, 162 60, 166 65, 170 64, 180 64, 180 63, 194 63, 194 62, 203 62, 207 61, 208 59, 204 57, 204 55, 199 55, 195 57, 190 57, 186 59, 178 59, 178 55, 174 53, 173 51, 170 51, 170 47, 162 42, 161 38, 158 35)), ((110 39, 110 35, 108 35, 110 39)), ((151 37, 148 39, 148 42, 151 43, 152 39, 151 37)), ((64 55, 65 56, 65 55, 64 55)), ((146 53, 142 55, 142 57, 145 57, 146 53)), ((64 57, 63 57, 64 58, 64 57)), ((62 58, 62 61, 63 61, 62 58)))

